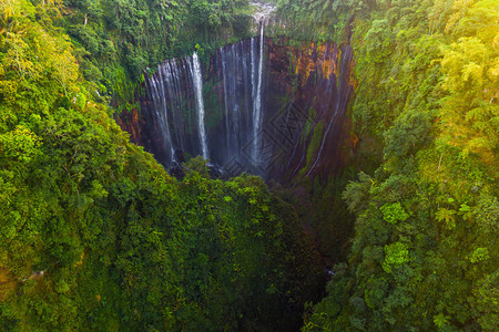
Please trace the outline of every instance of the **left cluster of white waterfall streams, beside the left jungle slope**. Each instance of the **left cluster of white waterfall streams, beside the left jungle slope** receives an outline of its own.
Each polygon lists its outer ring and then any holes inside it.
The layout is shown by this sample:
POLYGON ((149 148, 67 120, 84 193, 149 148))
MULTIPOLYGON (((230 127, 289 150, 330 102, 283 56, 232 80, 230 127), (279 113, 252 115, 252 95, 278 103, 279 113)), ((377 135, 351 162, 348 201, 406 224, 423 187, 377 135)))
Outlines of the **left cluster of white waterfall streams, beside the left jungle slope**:
POLYGON ((207 158, 203 83, 197 54, 166 60, 145 80, 145 84, 151 105, 143 106, 154 114, 154 127, 151 129, 156 134, 151 144, 154 145, 156 158, 169 167, 182 162, 183 158, 176 159, 177 153, 202 154, 207 158))

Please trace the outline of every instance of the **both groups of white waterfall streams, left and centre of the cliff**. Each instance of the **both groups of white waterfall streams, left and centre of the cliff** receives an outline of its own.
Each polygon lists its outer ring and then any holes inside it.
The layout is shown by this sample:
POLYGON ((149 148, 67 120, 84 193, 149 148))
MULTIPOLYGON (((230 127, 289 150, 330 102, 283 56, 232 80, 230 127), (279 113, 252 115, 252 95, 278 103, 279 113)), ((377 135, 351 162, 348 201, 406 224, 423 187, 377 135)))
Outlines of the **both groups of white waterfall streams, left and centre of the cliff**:
MULTIPOLYGON (((153 121, 161 133, 156 142, 161 162, 175 164, 183 154, 202 155, 213 164, 231 162, 256 166, 262 144, 262 95, 264 81, 264 24, 259 35, 221 48, 214 58, 215 82, 212 93, 203 90, 203 71, 197 53, 161 63, 146 77, 146 95, 152 102, 153 121), (205 113, 205 98, 215 96, 218 105, 205 113), (221 112, 223 111, 223 113, 221 112), (196 116, 193 116, 193 115, 196 116), (223 127, 207 117, 223 118, 223 127), (213 123, 213 122, 212 122, 213 123), (224 139, 218 139, 224 132, 224 139)), ((210 83, 210 82, 208 82, 210 83)), ((256 172, 254 172, 256 173, 256 172)))

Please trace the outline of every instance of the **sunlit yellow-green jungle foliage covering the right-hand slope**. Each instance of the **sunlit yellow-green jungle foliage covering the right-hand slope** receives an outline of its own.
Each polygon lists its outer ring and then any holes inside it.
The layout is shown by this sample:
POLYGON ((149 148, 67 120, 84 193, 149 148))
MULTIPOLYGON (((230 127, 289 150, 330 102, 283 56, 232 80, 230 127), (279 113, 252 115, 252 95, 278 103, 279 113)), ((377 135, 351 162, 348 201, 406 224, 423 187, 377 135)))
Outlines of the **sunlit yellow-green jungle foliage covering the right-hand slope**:
POLYGON ((497 331, 498 1, 278 10, 291 35, 352 43, 355 131, 384 147, 343 193, 356 215, 349 258, 303 330, 497 331))

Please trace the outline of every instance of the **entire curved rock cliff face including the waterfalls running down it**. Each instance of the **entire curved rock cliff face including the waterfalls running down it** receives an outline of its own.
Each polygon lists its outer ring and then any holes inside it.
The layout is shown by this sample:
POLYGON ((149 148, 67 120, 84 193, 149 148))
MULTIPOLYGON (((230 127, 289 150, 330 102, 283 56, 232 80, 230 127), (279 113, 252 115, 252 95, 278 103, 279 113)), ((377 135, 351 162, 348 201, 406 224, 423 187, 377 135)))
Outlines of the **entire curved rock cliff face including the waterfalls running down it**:
POLYGON ((349 45, 246 39, 205 65, 202 122, 187 58, 161 64, 145 80, 140 114, 121 114, 119 123, 166 167, 183 154, 201 155, 204 138, 210 160, 227 176, 327 175, 345 160, 352 69, 349 45))

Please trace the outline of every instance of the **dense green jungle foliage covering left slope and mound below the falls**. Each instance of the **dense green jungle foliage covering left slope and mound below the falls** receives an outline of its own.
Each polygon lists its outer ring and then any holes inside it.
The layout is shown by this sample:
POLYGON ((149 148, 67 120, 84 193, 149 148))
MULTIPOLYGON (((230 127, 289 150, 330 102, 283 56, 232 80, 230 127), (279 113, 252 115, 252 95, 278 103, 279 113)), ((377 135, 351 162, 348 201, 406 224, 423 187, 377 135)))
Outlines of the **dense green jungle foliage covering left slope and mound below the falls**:
MULTIPOLYGON (((129 143, 85 80, 126 46, 82 55, 64 33, 100 31, 104 12, 0 1, 0 330, 299 326, 324 271, 293 207, 261 178, 211 179, 200 159, 177 180, 129 143)), ((123 31, 99 50, 140 34, 123 31)))

